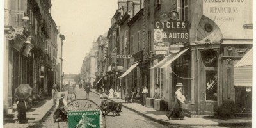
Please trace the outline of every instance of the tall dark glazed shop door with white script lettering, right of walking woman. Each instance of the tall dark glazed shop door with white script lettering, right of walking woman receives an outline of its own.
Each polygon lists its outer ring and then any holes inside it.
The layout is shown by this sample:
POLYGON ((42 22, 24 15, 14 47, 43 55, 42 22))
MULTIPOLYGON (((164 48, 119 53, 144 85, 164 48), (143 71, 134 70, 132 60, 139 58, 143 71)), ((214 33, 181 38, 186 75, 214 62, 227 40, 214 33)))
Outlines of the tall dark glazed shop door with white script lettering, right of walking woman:
POLYGON ((200 51, 200 114, 214 115, 218 100, 218 54, 214 50, 200 51))

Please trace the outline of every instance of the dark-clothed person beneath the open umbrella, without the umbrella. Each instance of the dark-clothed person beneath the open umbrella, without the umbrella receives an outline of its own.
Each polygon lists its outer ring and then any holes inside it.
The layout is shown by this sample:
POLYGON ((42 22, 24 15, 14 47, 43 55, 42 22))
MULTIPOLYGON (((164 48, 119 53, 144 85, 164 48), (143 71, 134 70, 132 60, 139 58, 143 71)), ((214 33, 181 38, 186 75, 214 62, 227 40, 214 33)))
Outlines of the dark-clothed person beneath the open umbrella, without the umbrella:
POLYGON ((18 120, 20 124, 28 123, 27 113, 26 113, 27 104, 25 99, 23 97, 19 98, 16 104, 17 104, 17 111, 18 111, 18 120))

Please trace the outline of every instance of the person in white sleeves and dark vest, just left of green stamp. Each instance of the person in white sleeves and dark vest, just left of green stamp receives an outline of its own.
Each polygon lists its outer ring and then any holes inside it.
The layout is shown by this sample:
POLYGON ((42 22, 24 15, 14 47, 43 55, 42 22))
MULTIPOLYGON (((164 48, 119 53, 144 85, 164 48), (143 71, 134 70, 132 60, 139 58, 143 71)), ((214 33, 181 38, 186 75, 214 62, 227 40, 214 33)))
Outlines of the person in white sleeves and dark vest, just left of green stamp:
POLYGON ((61 115, 61 118, 67 118, 68 116, 67 111, 65 110, 65 108, 67 107, 67 101, 64 99, 65 94, 62 93, 60 96, 61 98, 59 99, 59 102, 57 102, 56 104, 57 109, 53 114, 54 122, 59 121, 58 118, 60 115, 61 115))

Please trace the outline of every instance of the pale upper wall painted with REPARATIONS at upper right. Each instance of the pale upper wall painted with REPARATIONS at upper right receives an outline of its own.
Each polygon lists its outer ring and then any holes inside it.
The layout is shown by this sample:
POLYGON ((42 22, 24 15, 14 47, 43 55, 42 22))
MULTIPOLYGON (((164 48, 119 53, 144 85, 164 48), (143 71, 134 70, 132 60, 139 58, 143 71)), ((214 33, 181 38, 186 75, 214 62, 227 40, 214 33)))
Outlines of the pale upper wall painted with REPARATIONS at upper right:
POLYGON ((248 36, 244 32, 244 24, 253 23, 253 2, 248 0, 204 0, 203 15, 217 24, 223 38, 244 38, 244 36, 248 36))

